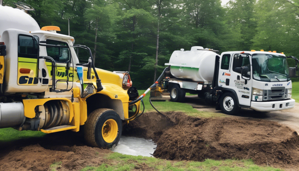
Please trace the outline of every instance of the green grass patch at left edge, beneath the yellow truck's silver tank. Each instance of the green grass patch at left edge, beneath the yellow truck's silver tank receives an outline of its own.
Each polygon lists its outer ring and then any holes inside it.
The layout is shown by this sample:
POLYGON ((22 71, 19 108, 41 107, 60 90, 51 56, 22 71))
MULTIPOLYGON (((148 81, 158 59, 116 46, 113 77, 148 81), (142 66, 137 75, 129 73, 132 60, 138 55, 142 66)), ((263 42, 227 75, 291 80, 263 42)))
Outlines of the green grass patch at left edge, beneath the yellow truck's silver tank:
POLYGON ((31 137, 43 137, 46 134, 41 131, 18 131, 13 128, 0 129, 0 142, 26 139, 31 137))

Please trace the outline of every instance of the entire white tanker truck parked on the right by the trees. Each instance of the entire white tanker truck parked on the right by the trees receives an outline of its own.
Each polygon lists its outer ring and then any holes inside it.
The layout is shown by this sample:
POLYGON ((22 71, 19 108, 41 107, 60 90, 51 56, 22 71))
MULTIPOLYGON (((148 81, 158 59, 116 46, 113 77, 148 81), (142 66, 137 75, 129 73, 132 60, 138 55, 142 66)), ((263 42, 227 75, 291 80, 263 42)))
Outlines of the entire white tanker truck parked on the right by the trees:
POLYGON ((240 108, 294 108, 291 77, 298 70, 296 57, 263 50, 217 52, 201 46, 173 52, 165 63, 170 71, 162 83, 172 101, 182 102, 189 92, 216 104, 216 109, 225 114, 235 114, 240 108), (296 67, 289 68, 287 58, 294 59, 296 67))

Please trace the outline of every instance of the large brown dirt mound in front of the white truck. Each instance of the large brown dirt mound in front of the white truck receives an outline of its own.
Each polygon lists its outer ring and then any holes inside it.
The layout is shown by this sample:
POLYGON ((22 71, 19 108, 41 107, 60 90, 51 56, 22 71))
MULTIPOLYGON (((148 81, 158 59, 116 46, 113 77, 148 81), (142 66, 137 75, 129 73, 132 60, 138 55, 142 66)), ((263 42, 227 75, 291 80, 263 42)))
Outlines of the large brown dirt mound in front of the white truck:
MULTIPOLYGON (((157 143, 155 157, 170 160, 248 159, 256 164, 290 168, 299 166, 297 132, 277 122, 238 118, 195 118, 179 112, 166 113, 174 126, 153 127, 155 112, 130 122, 125 134, 151 138, 157 143)), ((167 120, 154 121, 164 125, 167 120)))

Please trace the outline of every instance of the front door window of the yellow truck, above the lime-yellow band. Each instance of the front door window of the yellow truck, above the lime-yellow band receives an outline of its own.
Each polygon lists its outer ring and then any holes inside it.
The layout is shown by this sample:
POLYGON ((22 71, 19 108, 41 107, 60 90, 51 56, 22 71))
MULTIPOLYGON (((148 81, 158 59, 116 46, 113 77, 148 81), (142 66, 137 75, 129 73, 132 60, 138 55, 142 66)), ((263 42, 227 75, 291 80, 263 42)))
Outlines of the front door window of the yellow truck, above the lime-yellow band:
MULTIPOLYGON (((63 45, 68 46, 68 43, 61 42, 57 40, 47 39, 47 44, 49 45, 63 45)), ((47 47, 47 55, 52 57, 56 62, 65 63, 70 60, 70 51, 68 48, 64 47, 47 47)))

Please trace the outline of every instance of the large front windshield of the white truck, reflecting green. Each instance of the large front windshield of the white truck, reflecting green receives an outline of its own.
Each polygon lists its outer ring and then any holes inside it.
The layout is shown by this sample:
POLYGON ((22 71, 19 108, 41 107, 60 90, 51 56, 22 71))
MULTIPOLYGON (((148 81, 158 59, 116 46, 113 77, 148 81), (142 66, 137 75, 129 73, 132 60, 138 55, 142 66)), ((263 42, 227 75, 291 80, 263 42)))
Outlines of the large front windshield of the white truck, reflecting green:
POLYGON ((255 80, 267 82, 291 80, 286 57, 282 55, 253 54, 252 70, 255 80))

